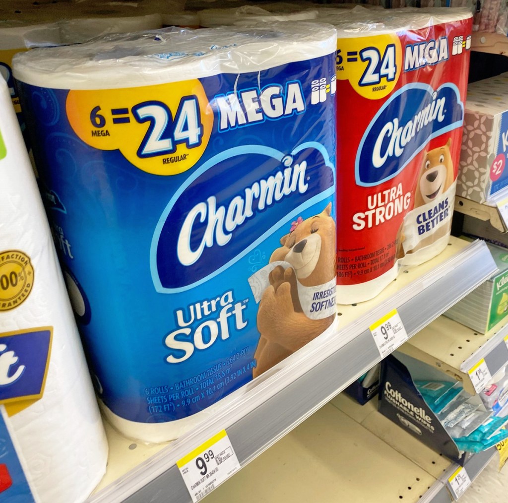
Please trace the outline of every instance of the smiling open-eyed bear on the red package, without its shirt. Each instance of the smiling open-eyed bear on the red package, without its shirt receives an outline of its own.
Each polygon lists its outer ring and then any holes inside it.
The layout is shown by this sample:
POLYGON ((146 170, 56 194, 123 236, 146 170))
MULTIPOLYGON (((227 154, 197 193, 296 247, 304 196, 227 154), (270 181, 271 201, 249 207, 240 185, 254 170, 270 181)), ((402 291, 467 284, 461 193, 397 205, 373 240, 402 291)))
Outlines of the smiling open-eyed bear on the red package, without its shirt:
MULTIPOLYGON (((417 178, 415 204, 413 209, 435 201, 439 196, 445 193, 455 181, 452 154, 450 152, 451 145, 452 139, 449 138, 446 144, 442 147, 437 147, 423 153, 423 162, 417 178)), ((440 227, 436 232, 422 239, 415 248, 412 248, 405 253, 414 253, 418 249, 434 243, 440 237, 450 232, 451 225, 452 222, 450 220, 447 225, 440 227)), ((396 259, 400 259, 405 255, 402 245, 405 237, 403 226, 404 223, 401 224, 397 233, 396 259)))

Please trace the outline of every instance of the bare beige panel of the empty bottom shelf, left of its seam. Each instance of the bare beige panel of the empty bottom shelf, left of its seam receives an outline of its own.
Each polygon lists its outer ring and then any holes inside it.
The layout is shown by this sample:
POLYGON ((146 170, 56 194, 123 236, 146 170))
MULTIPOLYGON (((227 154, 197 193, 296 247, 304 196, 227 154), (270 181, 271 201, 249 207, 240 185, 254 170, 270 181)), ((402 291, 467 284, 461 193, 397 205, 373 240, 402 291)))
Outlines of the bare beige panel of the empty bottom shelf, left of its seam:
POLYGON ((435 477, 331 403, 206 497, 206 503, 414 503, 435 477), (402 497, 401 497, 402 496, 402 497))

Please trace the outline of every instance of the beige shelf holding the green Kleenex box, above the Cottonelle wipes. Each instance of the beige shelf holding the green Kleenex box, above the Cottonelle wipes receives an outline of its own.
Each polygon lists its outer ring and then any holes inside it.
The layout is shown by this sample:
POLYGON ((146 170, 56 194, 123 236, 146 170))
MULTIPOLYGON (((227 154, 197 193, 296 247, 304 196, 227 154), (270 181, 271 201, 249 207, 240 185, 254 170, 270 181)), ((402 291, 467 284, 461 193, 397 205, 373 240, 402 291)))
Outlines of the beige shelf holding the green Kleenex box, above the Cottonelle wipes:
POLYGON ((473 395, 469 369, 485 359, 490 374, 494 375, 508 363, 508 347, 504 341, 508 336, 508 324, 503 323, 484 335, 440 316, 403 344, 399 351, 462 381, 464 389, 473 395))

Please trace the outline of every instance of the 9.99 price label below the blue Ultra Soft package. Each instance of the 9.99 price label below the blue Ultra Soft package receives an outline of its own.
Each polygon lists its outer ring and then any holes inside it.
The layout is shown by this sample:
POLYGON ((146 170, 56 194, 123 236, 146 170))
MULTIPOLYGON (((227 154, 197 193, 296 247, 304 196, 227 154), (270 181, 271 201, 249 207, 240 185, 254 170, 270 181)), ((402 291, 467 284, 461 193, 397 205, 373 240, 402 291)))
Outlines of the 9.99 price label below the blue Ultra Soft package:
POLYGON ((226 430, 176 462, 194 503, 203 499, 240 468, 226 430))

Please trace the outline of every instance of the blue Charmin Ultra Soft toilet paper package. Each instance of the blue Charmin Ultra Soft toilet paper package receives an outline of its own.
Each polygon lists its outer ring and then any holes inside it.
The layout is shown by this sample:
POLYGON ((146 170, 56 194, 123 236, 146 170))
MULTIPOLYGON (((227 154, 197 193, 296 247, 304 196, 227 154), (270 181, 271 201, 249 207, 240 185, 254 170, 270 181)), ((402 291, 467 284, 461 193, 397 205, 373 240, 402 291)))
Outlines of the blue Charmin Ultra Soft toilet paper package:
POLYGON ((94 382, 125 434, 181 435, 334 323, 335 90, 315 82, 335 49, 330 25, 272 23, 16 57, 94 382))

